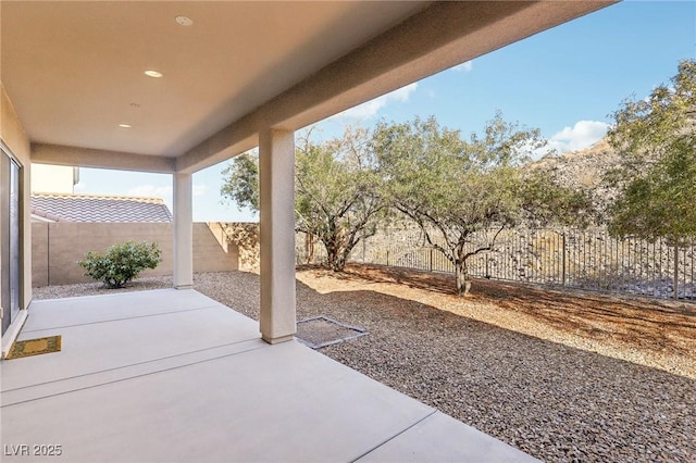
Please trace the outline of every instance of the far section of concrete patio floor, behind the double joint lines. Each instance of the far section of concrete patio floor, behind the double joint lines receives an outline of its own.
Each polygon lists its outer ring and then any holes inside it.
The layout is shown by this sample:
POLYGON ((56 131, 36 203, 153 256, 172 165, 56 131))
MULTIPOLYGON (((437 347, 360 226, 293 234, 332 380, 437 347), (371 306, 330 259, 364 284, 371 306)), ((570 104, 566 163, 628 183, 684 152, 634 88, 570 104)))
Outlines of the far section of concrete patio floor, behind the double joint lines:
POLYGON ((259 338, 256 322, 192 290, 138 295, 33 303, 18 339, 62 335, 63 350, 9 362, 3 390, 259 338))

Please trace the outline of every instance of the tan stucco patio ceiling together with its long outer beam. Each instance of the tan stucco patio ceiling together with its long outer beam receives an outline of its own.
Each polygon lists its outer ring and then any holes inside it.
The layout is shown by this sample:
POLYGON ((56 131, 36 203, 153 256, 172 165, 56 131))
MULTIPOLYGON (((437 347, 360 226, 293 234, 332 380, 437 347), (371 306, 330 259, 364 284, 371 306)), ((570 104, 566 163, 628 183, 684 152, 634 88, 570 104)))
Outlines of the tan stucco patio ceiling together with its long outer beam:
POLYGON ((2 0, 0 71, 32 142, 190 170, 610 2, 2 0))

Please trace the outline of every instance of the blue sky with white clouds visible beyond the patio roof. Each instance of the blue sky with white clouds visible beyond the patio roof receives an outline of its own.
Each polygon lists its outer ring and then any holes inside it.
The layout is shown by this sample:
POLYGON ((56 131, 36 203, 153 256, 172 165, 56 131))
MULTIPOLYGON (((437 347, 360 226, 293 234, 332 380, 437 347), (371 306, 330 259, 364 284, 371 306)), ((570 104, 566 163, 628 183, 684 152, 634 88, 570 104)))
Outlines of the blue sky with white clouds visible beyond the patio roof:
MULTIPOLYGON (((435 115, 468 135, 500 110, 506 121, 539 128, 558 151, 573 151, 604 136, 622 100, 646 97, 687 58, 696 58, 696 1, 624 1, 356 107, 315 133, 435 115)), ((257 218, 221 203, 226 164, 194 174, 195 221, 257 218)), ((171 208, 172 178, 82 168, 75 192, 157 196, 171 208)))

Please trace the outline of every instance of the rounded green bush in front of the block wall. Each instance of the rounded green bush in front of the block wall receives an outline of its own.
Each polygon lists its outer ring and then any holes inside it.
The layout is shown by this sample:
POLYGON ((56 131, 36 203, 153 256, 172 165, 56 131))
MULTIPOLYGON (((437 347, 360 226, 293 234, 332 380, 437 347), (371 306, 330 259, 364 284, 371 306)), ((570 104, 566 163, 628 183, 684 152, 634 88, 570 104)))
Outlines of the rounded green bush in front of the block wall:
POLYGON ((103 281, 107 288, 123 288, 145 268, 157 267, 162 262, 157 242, 126 241, 109 247, 103 255, 89 251, 77 263, 85 276, 103 281))

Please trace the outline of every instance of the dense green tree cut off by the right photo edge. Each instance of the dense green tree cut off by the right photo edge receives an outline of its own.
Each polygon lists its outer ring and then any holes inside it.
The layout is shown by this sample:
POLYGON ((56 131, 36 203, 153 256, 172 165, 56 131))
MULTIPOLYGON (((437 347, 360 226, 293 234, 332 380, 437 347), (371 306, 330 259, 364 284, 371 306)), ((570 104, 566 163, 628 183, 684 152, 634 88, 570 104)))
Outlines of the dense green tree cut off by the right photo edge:
POLYGON ((670 85, 613 113, 609 142, 621 163, 607 175, 619 195, 608 208, 618 236, 673 245, 696 240, 696 61, 684 60, 670 85))

